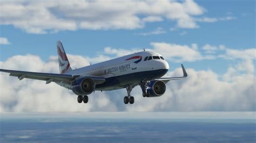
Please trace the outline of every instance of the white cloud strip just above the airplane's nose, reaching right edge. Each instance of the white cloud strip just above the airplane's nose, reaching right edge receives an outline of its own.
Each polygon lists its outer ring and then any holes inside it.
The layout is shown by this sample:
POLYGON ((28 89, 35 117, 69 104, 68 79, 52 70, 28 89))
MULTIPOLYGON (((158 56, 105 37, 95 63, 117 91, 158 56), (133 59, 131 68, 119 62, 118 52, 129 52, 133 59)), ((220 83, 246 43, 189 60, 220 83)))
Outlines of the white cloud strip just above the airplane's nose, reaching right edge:
MULTIPOLYGON (((178 45, 167 42, 151 42, 150 48, 146 48, 147 51, 155 51, 161 53, 166 60, 172 62, 194 62, 200 60, 255 60, 256 48, 247 49, 232 49, 227 48, 225 45, 210 45, 205 44, 200 47, 203 52, 200 51, 197 44, 191 45, 178 45)), ((143 51, 143 48, 132 48, 130 50, 123 48, 105 47, 104 53, 98 55, 95 59, 100 62, 104 61, 104 58, 109 60, 119 56, 124 56, 136 52, 143 51), (105 54, 105 55, 104 55, 105 54), (107 56, 106 56, 107 55, 107 56), (100 58, 101 57, 101 58, 100 58)), ((91 58, 87 58, 92 60, 91 58)))

